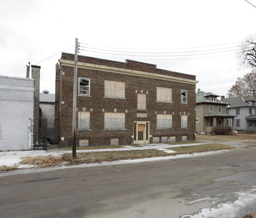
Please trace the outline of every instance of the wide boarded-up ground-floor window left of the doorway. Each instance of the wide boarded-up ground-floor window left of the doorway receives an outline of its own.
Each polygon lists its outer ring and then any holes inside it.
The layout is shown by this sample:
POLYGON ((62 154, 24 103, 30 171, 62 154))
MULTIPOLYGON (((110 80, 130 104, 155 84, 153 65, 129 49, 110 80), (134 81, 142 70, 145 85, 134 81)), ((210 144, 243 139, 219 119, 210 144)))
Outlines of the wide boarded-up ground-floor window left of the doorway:
POLYGON ((125 129, 125 113, 104 113, 104 129, 125 129))

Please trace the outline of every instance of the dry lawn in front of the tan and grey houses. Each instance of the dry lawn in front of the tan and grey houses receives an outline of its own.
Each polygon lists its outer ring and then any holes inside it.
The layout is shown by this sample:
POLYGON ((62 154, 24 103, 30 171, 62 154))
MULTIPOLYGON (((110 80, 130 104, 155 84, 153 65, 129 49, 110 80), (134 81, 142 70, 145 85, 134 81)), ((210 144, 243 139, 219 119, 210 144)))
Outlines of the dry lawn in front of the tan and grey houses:
POLYGON ((197 140, 216 140, 216 141, 240 141, 240 140, 250 140, 256 139, 253 135, 205 135, 198 134, 196 136, 197 140))

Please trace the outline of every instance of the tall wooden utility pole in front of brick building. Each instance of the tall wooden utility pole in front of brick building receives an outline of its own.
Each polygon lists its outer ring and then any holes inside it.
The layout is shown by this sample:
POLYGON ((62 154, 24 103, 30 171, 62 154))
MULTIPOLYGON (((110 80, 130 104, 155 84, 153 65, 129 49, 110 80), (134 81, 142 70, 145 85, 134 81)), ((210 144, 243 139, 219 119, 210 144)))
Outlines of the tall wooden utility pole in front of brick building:
POLYGON ((77 95, 77 55, 78 55, 78 38, 76 38, 75 60, 74 60, 74 88, 73 88, 73 121, 72 121, 72 154, 76 158, 76 95, 77 95))

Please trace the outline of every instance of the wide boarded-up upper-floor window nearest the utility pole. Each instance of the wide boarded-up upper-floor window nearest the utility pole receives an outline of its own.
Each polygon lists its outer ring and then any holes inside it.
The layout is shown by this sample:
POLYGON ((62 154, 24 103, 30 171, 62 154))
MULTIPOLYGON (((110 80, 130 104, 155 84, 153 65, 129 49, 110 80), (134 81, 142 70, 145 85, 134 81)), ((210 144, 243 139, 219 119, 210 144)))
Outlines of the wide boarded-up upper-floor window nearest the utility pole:
POLYGON ((105 94, 107 98, 125 98, 125 82, 105 80, 105 94))

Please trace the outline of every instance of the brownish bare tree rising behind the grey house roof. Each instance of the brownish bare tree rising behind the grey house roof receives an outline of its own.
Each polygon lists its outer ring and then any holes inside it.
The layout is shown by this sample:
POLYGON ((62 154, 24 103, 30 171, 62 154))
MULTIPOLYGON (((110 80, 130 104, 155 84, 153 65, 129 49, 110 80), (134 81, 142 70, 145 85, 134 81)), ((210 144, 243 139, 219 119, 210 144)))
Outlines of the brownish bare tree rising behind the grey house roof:
POLYGON ((256 99, 256 72, 253 70, 242 78, 238 77, 236 84, 228 90, 227 96, 249 96, 256 99))

